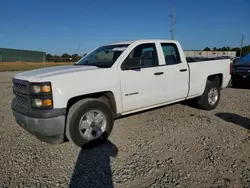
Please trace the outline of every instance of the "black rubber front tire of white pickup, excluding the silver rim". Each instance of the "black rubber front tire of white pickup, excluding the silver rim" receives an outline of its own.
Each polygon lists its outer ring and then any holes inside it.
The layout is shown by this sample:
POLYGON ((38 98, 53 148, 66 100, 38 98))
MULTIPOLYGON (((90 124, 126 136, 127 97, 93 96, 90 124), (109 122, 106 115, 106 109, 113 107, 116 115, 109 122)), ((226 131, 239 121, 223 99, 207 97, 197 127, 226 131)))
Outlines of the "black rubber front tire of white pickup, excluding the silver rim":
MULTIPOLYGON (((87 121, 88 120, 85 120, 84 122, 87 122, 87 121)), ((107 138, 109 137, 113 129, 113 124, 114 124, 113 113, 110 109, 110 106, 107 103, 99 99, 83 99, 83 100, 76 102, 69 109, 68 116, 67 116, 67 123, 66 123, 66 136, 71 142, 73 142, 78 147, 81 147, 81 148, 92 147, 92 146, 101 144, 102 142, 107 140, 107 138), (105 119, 106 126, 101 136, 90 140, 90 139, 86 139, 84 132, 86 130, 90 130, 89 132, 92 132, 95 126, 93 126, 90 129, 80 130, 79 124, 80 124, 80 120, 82 120, 82 118, 85 117, 85 114, 92 113, 92 112, 93 113, 99 112, 100 114, 104 115, 106 118, 105 119)), ((99 127, 99 126, 96 126, 96 127, 99 127)), ((95 128, 94 131, 100 134, 101 128, 95 128), (96 129, 98 129, 98 131, 96 131, 96 129)))

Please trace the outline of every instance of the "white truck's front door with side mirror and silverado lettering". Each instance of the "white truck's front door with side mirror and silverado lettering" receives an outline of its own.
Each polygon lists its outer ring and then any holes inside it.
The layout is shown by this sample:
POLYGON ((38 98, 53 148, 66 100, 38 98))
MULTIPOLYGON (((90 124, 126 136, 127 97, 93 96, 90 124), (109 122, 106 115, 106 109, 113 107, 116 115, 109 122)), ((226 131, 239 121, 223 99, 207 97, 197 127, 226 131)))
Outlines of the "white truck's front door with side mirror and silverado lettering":
POLYGON ((165 101, 165 74, 159 66, 155 43, 137 45, 121 64, 123 112, 165 101), (138 67, 131 70, 131 67, 138 67), (139 68, 140 67, 140 68, 139 68))

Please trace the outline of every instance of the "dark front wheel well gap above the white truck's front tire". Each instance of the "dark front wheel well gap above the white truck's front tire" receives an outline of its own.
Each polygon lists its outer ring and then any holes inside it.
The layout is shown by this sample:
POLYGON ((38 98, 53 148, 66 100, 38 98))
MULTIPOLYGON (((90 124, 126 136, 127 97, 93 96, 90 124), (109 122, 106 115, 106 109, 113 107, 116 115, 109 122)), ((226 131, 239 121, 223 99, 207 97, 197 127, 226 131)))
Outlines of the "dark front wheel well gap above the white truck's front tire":
POLYGON ((72 97, 71 99, 68 100, 68 103, 67 103, 67 113, 73 104, 85 98, 95 98, 95 99, 103 100, 105 103, 107 103, 110 106, 113 114, 116 116, 117 114, 116 102, 115 102, 114 94, 111 91, 104 91, 104 92, 91 93, 91 94, 72 97))

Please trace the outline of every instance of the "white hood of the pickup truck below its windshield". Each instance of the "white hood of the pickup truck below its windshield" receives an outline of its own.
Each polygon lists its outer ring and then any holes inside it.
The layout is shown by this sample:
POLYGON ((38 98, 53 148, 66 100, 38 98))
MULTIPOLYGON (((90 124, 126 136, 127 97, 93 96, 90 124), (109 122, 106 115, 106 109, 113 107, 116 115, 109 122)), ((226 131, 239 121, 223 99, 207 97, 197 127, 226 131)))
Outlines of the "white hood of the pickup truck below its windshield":
POLYGON ((50 68, 42 68, 32 71, 26 71, 15 75, 15 79, 27 80, 30 82, 39 82, 43 78, 50 76, 61 75, 61 74, 70 74, 74 72, 81 72, 87 70, 98 69, 95 66, 84 66, 84 65, 65 65, 65 66, 56 66, 50 68))

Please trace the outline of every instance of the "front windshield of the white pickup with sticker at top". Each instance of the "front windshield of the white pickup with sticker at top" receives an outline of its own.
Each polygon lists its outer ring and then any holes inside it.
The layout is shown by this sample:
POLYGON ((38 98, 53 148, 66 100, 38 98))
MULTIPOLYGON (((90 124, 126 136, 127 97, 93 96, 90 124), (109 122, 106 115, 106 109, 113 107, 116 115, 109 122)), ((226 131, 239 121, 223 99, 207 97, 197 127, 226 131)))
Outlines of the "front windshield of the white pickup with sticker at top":
POLYGON ((127 44, 101 46, 84 56, 75 65, 110 68, 127 47, 127 44))

